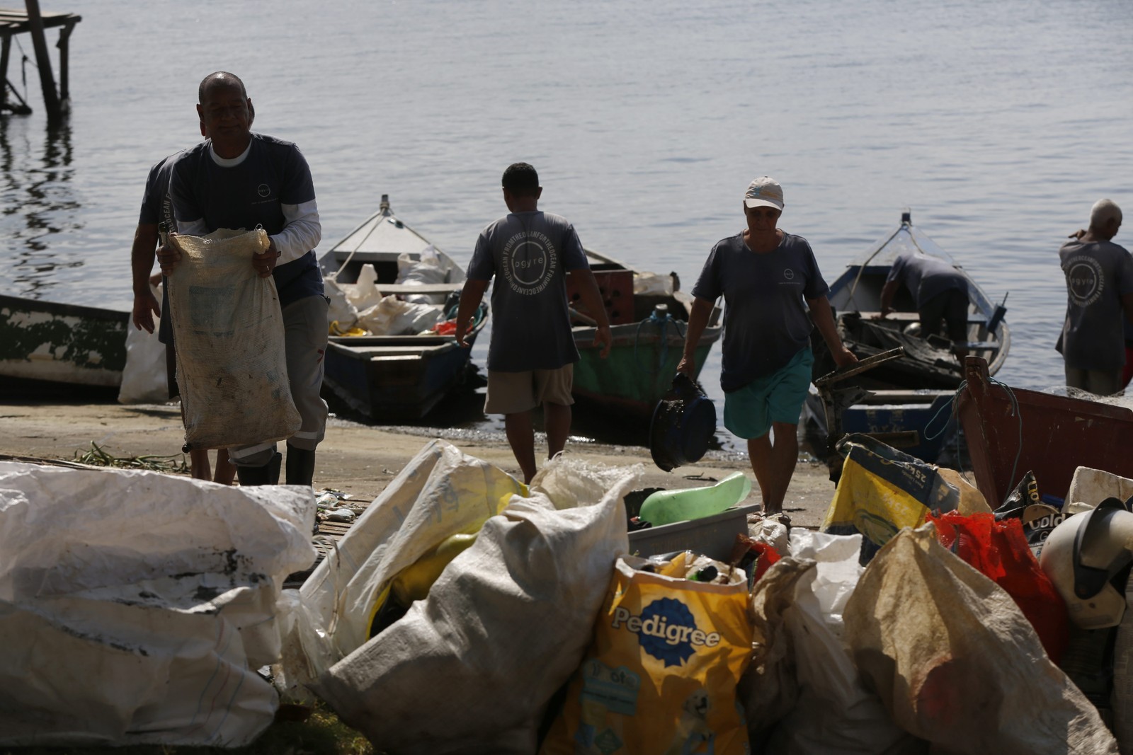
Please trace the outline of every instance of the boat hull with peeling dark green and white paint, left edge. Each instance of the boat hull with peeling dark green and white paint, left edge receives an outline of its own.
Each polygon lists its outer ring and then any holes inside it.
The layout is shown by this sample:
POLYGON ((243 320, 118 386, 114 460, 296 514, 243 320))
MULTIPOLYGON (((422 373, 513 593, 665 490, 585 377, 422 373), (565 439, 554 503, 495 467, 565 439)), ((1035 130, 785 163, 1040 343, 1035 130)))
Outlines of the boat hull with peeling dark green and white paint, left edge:
POLYGON ((117 394, 129 312, 0 295, 6 393, 117 394))

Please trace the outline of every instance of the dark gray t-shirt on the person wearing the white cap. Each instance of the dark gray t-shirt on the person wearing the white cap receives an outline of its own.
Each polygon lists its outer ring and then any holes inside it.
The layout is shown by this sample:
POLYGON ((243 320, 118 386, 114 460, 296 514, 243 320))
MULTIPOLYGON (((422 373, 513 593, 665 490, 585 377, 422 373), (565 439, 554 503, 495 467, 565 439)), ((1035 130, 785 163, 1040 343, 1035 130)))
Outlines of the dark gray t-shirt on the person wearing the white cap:
POLYGON ((719 385, 736 391, 782 369, 808 348, 813 324, 803 299, 826 295, 807 240, 783 234, 767 254, 753 252, 743 233, 713 247, 692 295, 709 301, 724 297, 724 348, 719 385))

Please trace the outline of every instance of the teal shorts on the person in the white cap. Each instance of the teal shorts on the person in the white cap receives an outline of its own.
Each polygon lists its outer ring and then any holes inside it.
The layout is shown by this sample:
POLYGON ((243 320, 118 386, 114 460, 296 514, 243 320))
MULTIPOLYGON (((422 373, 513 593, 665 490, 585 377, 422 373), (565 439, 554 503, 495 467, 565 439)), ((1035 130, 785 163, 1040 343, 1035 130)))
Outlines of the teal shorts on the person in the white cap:
POLYGON ((760 438, 773 422, 798 424, 810 389, 815 355, 800 349, 784 367, 724 394, 724 427, 741 438, 760 438))

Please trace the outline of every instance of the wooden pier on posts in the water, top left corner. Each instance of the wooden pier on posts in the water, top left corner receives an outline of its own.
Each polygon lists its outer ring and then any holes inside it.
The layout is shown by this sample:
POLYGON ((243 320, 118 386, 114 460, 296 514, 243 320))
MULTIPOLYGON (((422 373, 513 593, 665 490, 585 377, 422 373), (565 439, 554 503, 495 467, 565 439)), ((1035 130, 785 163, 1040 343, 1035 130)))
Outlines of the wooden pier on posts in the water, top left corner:
POLYGON ((19 96, 16 87, 8 80, 8 61, 11 58, 11 41, 17 34, 31 34, 32 46, 35 49, 35 65, 40 70, 40 85, 43 89, 43 103, 48 110, 48 120, 58 122, 70 109, 69 89, 69 40, 75 25, 83 20, 77 14, 41 14, 39 0, 27 0, 25 10, 0 8, 0 114, 11 112, 27 114, 32 108, 19 96), (51 54, 48 51, 45 29, 58 28, 59 42, 59 89, 56 91, 56 79, 51 70, 51 54), (18 101, 8 102, 9 92, 18 101))

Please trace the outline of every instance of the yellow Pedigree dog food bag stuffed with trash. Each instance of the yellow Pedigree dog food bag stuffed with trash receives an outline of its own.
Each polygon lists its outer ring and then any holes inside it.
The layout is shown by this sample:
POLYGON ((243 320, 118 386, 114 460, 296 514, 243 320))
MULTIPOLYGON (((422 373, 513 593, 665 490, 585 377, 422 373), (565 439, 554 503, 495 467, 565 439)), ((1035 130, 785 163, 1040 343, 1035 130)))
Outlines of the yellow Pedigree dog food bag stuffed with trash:
POLYGON ((712 565, 691 552, 656 572, 617 559, 594 643, 571 678, 540 755, 748 752, 735 687, 751 659, 747 577, 685 578, 712 565))

